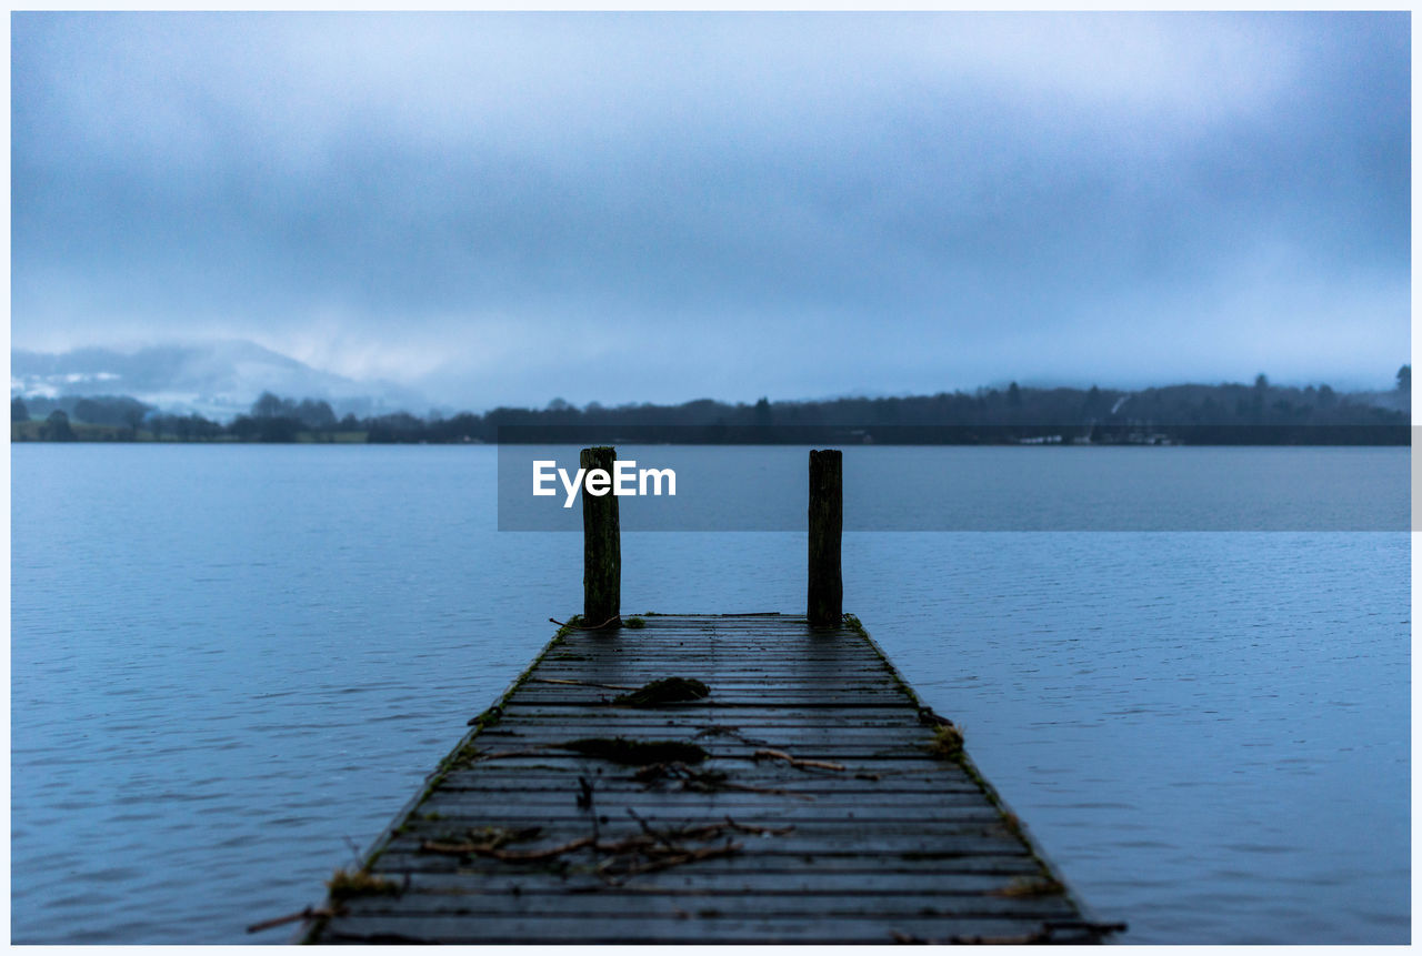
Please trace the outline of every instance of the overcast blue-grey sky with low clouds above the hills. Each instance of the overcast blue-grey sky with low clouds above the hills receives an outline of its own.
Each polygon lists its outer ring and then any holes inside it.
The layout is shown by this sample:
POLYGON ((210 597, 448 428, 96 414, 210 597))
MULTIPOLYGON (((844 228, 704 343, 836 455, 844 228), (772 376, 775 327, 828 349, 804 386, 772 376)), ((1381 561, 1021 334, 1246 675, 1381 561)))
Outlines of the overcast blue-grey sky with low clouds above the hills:
POLYGON ((11 342, 471 408, 1386 386, 1391 14, 30 14, 11 342))

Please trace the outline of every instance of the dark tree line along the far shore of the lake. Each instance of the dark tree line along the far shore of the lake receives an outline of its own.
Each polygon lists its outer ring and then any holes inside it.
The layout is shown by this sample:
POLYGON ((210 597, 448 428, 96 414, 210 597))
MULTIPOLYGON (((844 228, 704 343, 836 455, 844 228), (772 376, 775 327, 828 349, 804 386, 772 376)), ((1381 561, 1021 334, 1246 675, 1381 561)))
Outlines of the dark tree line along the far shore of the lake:
POLYGON ((698 399, 577 408, 553 399, 542 409, 501 406, 448 418, 408 412, 337 418, 323 399, 264 392, 247 413, 228 423, 165 413, 128 396, 14 396, 10 420, 14 440, 492 443, 577 442, 596 432, 624 442, 702 443, 1406 443, 1409 391, 1411 366, 1404 365, 1394 408, 1328 385, 1277 386, 1258 375, 1251 385, 1172 385, 1138 392, 1020 388, 1012 382, 1004 389, 906 398, 762 398, 735 405, 698 399))

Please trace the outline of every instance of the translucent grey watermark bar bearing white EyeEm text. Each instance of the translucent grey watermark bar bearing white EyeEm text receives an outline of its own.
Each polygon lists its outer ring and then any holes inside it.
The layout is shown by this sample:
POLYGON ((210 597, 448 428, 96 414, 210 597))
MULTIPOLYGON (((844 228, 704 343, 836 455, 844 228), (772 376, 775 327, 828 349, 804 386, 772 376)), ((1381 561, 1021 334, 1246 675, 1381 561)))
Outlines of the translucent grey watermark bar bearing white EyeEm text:
MULTIPOLYGON (((577 453, 594 445, 614 446, 626 463, 619 469, 624 531, 803 531, 811 447, 845 452, 846 531, 1411 527, 1409 429, 1348 429, 1352 443, 1322 429, 1314 438, 1324 440, 1283 443, 1297 436, 1246 428, 1223 433, 1230 440, 1190 445, 1180 432, 1142 429, 1139 440, 1086 443, 1014 428, 980 429, 967 443, 961 429, 887 426, 505 426, 499 530, 582 531, 587 476, 577 474, 577 453)), ((607 477, 594 489, 616 494, 619 476, 607 477)))

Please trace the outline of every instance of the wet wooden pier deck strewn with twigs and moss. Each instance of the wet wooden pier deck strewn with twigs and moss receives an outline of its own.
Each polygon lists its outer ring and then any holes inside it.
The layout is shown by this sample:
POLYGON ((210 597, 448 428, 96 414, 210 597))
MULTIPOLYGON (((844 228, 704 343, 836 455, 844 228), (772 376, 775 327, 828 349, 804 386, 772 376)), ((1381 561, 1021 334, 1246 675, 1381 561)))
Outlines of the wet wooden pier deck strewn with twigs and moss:
POLYGON ((853 618, 565 628, 471 723, 303 939, 1099 942, 1113 929, 1084 915, 853 618), (665 678, 708 693, 617 700, 665 678))

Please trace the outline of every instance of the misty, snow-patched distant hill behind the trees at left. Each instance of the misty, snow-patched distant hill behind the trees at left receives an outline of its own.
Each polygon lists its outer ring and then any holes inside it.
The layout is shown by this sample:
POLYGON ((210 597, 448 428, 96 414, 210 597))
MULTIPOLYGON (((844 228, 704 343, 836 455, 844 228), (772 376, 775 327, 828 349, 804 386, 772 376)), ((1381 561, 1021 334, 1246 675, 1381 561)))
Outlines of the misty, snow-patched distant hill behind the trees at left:
POLYGON ((11 395, 128 395, 168 412, 196 412, 225 420, 252 408, 262 392, 324 399, 337 415, 428 408, 425 396, 414 389, 323 372, 240 340, 156 345, 132 352, 109 348, 10 352, 11 395))

